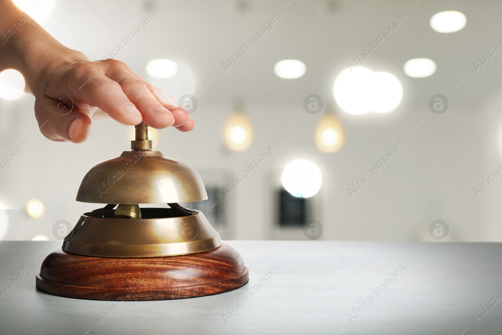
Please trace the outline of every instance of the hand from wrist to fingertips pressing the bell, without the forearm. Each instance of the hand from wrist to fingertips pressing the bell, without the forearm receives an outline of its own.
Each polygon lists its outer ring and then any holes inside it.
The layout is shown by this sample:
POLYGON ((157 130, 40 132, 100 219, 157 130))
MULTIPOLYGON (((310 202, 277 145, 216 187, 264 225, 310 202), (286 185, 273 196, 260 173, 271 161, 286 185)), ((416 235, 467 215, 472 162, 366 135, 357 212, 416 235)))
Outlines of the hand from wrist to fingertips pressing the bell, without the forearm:
POLYGON ((39 126, 43 125, 40 131, 50 140, 85 141, 91 120, 102 119, 102 112, 123 125, 143 121, 157 129, 173 126, 188 132, 195 128, 175 98, 154 88, 121 61, 82 59, 39 73, 43 85, 34 90, 35 116, 39 126))

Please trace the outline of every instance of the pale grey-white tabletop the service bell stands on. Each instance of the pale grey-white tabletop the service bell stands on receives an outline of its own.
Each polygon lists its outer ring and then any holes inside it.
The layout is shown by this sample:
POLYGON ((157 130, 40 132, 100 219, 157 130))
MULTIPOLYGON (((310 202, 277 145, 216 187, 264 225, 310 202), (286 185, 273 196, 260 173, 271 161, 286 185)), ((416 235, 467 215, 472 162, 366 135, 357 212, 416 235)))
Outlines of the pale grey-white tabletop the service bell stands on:
POLYGON ((502 299, 500 243, 227 242, 243 256, 248 284, 200 298, 124 301, 101 323, 106 301, 36 290, 35 275, 60 242, 0 242, 0 285, 30 267, 0 297, 0 334, 502 334, 502 300, 474 317, 502 299), (272 281, 251 296, 246 290, 275 264, 272 281), (406 270, 376 296, 401 264, 406 270), (249 300, 225 322, 243 295, 249 300), (349 320, 368 295, 374 301, 349 320))

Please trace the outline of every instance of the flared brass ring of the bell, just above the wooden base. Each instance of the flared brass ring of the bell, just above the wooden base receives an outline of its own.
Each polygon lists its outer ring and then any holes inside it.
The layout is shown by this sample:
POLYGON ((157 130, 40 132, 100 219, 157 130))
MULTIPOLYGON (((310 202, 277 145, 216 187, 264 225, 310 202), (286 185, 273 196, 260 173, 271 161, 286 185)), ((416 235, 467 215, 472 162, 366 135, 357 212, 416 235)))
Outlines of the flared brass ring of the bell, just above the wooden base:
MULTIPOLYGON (((157 208, 150 208, 157 209, 157 208)), ((204 214, 159 218, 81 215, 63 240, 65 252, 91 257, 157 258, 203 253, 221 246, 204 214), (184 235, 185 231, 192 235, 184 235)))

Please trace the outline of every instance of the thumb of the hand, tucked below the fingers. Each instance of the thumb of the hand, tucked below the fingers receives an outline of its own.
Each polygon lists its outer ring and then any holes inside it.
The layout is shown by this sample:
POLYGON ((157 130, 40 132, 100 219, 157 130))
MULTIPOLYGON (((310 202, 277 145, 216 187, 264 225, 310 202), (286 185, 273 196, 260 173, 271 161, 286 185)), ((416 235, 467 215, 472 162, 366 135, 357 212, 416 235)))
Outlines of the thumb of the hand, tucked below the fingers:
POLYGON ((35 100, 35 117, 40 132, 56 142, 84 142, 91 130, 91 120, 78 111, 71 99, 42 96, 35 100))

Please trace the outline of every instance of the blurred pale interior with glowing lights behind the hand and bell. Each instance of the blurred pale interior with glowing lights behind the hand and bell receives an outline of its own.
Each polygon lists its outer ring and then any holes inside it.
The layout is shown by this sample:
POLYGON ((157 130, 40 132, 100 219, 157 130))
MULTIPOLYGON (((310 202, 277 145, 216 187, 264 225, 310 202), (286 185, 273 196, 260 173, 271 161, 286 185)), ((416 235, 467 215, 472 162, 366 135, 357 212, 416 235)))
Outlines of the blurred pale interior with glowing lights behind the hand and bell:
MULTIPOLYGON (((196 129, 152 131, 154 149, 199 172, 209 199, 184 205, 223 239, 502 239, 500 2, 16 3, 190 111, 196 129)), ((80 181, 134 127, 51 142, 23 86, 0 73, 0 239, 56 240, 101 206, 74 200, 80 181)))

